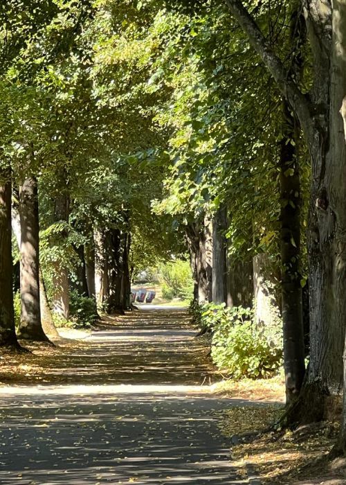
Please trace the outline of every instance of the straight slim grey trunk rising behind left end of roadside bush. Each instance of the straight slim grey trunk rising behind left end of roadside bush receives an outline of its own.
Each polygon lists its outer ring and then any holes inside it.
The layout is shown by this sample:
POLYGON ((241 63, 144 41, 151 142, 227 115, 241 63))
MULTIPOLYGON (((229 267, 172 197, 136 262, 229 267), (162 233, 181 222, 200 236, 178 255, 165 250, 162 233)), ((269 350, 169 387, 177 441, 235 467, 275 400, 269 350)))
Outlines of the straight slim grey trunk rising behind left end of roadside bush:
POLYGON ((227 303, 226 207, 220 207, 212 220, 212 301, 227 303))

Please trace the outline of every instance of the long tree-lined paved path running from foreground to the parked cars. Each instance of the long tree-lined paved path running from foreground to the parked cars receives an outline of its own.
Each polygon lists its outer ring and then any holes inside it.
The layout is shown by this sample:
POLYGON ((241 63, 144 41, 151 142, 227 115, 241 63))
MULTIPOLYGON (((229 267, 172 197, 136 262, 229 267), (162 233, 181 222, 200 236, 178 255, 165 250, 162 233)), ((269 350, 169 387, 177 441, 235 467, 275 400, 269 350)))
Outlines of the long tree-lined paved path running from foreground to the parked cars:
POLYGON ((194 335, 183 311, 131 312, 56 353, 48 384, 0 388, 0 483, 249 483, 217 430, 230 401, 210 394, 194 335))

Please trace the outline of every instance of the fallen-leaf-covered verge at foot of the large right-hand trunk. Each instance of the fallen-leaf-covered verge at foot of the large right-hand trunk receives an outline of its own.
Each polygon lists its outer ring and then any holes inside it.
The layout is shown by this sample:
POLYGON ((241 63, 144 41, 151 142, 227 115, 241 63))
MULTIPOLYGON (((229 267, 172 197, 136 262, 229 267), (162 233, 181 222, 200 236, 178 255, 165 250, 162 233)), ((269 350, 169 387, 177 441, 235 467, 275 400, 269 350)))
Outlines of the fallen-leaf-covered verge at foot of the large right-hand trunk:
POLYGON ((346 460, 328 456, 338 439, 338 423, 325 421, 294 431, 264 432, 282 409, 282 405, 260 405, 221 414, 219 429, 232 437, 232 458, 243 477, 251 470, 262 485, 345 485, 346 460))

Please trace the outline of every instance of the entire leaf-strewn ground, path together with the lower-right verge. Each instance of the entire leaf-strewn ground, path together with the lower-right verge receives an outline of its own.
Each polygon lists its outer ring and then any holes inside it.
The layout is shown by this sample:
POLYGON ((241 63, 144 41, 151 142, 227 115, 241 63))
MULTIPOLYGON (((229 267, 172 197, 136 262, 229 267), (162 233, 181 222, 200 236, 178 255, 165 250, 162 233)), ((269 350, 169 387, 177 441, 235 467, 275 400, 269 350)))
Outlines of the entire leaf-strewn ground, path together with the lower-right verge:
POLYGON ((0 349, 1 485, 346 484, 336 423, 242 442, 280 414, 282 379, 218 384, 183 310, 63 335, 78 340, 0 349))

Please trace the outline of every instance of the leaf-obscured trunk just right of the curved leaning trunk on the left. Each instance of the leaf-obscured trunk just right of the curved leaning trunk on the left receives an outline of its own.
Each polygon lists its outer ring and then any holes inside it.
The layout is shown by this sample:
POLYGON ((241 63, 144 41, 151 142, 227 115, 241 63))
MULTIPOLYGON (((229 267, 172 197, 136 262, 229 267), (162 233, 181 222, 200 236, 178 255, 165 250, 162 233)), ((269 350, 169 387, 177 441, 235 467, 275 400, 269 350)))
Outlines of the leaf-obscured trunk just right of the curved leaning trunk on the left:
MULTIPOLYGON (((55 199, 55 222, 69 222, 69 195, 61 193, 55 199)), ((66 231, 61 234, 67 237, 66 231)), ((64 261, 53 263, 53 311, 64 319, 70 315, 69 272, 64 261)))

